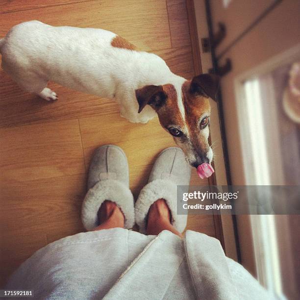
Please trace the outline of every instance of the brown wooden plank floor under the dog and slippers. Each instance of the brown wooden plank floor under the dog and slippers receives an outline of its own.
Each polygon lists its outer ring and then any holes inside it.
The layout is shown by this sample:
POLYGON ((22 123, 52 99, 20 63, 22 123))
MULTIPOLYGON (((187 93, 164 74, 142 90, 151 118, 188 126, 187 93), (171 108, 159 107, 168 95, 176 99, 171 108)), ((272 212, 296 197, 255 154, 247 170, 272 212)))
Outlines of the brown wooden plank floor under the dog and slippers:
MULTIPOLYGON (((178 75, 195 73, 185 0, 4 0, 0 5, 0 37, 33 19, 99 27, 160 55, 178 75)), ((156 155, 175 144, 157 119, 131 124, 111 100, 50 87, 59 95, 56 102, 25 93, 0 70, 1 285, 34 251, 84 231, 80 207, 93 150, 104 144, 125 150, 136 198, 156 155)), ((207 181, 193 171, 192 183, 207 181)), ((216 235, 212 216, 190 216, 188 228, 216 235)))

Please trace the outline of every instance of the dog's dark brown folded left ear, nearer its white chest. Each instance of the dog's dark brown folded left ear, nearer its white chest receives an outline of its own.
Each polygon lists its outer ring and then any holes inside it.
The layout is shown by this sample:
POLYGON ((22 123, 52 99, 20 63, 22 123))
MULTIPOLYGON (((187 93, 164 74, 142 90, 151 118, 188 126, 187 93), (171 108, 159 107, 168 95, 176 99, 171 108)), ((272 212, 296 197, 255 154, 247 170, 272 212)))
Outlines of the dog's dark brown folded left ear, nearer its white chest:
POLYGON ((139 103, 138 113, 140 113, 147 104, 157 111, 165 103, 167 94, 162 85, 146 85, 135 90, 135 97, 139 103))

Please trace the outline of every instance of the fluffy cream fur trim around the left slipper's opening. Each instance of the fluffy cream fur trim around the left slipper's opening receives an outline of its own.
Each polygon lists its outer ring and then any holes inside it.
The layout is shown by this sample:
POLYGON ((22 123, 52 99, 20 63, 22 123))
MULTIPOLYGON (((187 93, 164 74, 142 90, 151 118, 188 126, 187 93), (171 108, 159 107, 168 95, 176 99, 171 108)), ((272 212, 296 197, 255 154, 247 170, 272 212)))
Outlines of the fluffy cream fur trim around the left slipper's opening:
POLYGON ((134 225, 134 200, 131 191, 119 180, 100 180, 87 192, 81 208, 82 224, 87 230, 99 225, 98 210, 105 200, 115 202, 125 216, 125 228, 134 225))

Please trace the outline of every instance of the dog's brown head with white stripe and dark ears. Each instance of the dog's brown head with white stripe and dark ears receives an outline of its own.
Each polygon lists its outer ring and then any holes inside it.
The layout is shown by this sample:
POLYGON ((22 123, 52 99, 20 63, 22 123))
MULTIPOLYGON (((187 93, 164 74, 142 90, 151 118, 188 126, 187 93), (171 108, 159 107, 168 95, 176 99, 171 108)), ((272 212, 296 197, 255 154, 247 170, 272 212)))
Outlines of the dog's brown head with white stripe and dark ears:
POLYGON ((213 151, 208 144, 210 104, 216 100, 219 77, 202 74, 173 84, 147 85, 135 91, 139 113, 148 104, 158 114, 160 124, 184 151, 187 162, 198 167, 210 163, 213 151))

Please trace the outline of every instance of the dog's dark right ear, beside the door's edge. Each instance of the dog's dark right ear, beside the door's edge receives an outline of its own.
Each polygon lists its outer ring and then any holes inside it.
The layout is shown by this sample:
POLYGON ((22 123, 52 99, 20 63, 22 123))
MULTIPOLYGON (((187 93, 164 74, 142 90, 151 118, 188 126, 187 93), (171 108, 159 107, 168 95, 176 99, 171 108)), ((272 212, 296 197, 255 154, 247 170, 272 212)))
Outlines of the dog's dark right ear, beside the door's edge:
POLYGON ((201 74, 192 79, 190 91, 217 100, 220 77, 214 74, 201 74))

